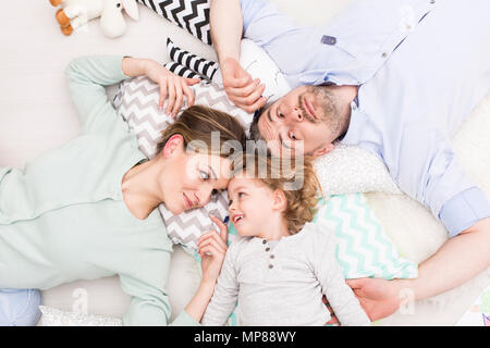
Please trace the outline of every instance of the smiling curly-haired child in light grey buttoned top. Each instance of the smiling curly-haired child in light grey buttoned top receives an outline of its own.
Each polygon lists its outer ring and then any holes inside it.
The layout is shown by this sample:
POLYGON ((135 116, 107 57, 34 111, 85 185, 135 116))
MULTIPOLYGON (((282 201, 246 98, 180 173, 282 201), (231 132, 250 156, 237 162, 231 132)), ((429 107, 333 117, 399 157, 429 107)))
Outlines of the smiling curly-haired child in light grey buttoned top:
MULTIPOLYGON (((238 325, 324 325, 324 295, 342 325, 369 325, 335 260, 333 233, 308 223, 318 198, 310 160, 274 177, 271 159, 257 157, 255 172, 247 159, 228 186, 230 221, 244 238, 228 249, 201 323, 223 325, 237 301, 238 325), (267 177, 254 174, 266 166, 267 177), (285 189, 293 175, 303 185, 285 189)), ((208 244, 225 249, 217 234, 199 248, 208 244)))

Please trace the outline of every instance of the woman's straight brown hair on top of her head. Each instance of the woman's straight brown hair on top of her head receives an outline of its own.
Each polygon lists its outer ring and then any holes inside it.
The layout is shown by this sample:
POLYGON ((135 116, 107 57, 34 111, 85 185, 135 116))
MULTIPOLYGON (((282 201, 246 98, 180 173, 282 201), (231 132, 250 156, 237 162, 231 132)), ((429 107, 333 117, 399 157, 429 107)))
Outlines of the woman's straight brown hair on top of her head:
POLYGON ((161 133, 157 146, 157 154, 164 148, 167 141, 180 134, 184 138, 184 147, 194 145, 194 150, 207 149, 208 153, 228 157, 222 151, 223 145, 235 145, 243 151, 246 145, 246 134, 242 124, 232 115, 204 105, 193 105, 185 111, 161 133), (215 135, 213 135, 215 134, 215 135), (215 138, 213 138, 215 137, 215 138), (212 139, 219 139, 219 148, 213 147, 212 139))

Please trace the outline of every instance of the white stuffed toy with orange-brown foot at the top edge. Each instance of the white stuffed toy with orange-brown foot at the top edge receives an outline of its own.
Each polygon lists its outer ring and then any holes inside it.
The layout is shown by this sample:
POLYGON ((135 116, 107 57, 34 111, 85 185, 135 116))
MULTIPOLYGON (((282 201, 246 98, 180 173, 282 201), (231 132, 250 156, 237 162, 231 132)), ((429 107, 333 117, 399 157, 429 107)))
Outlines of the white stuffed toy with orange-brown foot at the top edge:
POLYGON ((139 20, 136 0, 49 0, 53 7, 61 4, 56 18, 61 32, 69 36, 88 21, 100 17, 102 33, 110 38, 126 30, 122 10, 135 21, 139 20))

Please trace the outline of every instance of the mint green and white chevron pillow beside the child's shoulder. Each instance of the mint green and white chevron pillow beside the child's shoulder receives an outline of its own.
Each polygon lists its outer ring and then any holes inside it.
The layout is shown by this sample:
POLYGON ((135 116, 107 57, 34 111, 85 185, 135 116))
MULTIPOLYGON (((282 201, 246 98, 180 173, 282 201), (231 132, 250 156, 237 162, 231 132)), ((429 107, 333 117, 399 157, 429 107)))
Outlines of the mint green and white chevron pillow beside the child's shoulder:
POLYGON ((320 199, 314 223, 334 232, 345 278, 415 278, 417 264, 402 258, 363 194, 320 199))

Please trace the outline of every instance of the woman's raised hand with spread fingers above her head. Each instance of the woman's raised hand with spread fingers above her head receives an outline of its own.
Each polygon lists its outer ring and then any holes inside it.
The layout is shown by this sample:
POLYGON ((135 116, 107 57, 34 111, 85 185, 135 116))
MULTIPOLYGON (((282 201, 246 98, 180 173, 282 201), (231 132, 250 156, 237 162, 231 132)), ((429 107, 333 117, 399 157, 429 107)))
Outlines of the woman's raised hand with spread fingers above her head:
POLYGON ((187 105, 194 104, 194 92, 189 88, 200 82, 199 78, 184 78, 170 72, 167 67, 152 60, 145 60, 145 75, 160 86, 160 100, 158 108, 163 109, 166 98, 166 113, 175 117, 181 109, 184 95, 187 97, 187 105))

